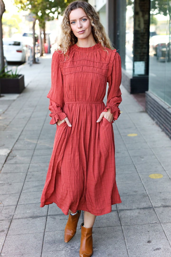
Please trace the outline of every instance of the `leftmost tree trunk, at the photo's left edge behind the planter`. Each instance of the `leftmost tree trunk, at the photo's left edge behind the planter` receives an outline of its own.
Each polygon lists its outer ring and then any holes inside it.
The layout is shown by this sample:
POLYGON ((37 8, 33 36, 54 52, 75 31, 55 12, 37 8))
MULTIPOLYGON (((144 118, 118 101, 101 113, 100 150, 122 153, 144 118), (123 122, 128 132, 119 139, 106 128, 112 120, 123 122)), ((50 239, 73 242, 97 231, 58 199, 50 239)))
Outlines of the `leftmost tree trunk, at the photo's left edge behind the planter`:
POLYGON ((0 0, 0 70, 5 66, 4 64, 4 51, 3 51, 3 32, 2 32, 2 15, 5 12, 5 4, 0 0))

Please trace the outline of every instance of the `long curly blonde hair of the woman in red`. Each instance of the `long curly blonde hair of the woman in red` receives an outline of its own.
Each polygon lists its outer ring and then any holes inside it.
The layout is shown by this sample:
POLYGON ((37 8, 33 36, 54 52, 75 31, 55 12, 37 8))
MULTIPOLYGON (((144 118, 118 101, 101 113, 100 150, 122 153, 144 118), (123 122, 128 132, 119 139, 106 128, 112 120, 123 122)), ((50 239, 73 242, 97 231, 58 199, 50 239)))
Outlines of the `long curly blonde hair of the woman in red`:
MULTIPOLYGON (((100 22, 99 14, 89 3, 79 0, 74 1, 67 6, 63 15, 63 21, 61 23, 61 39, 59 43, 60 50, 66 54, 68 48, 71 45, 74 45, 77 42, 77 37, 71 30, 69 23, 69 14, 72 10, 82 8, 86 13, 87 17, 90 19, 90 24, 92 25, 92 34, 96 43, 101 43, 102 48, 105 50, 105 47, 109 49, 114 49, 112 43, 105 32, 105 28, 100 22)), ((106 50, 107 51, 107 50, 106 50)))

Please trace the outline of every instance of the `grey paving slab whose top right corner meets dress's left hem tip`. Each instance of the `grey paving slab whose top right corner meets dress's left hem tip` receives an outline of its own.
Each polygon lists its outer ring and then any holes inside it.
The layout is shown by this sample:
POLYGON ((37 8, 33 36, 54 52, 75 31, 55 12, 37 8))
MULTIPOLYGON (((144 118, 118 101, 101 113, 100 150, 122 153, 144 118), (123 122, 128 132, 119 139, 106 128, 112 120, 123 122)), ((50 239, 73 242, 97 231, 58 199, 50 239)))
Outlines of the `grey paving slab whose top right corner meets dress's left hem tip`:
POLYGON ((17 205, 14 219, 46 216, 47 210, 47 205, 41 208, 39 203, 17 205))

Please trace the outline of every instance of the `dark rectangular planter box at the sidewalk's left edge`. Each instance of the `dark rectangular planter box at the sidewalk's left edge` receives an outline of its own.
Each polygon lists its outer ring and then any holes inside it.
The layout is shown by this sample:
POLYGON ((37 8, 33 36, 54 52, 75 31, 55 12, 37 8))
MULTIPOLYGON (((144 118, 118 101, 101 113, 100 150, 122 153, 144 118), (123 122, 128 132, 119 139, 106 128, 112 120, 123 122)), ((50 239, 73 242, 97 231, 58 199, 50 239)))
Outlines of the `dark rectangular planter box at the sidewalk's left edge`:
POLYGON ((24 75, 18 78, 1 78, 0 79, 1 94, 20 94, 24 86, 24 75))

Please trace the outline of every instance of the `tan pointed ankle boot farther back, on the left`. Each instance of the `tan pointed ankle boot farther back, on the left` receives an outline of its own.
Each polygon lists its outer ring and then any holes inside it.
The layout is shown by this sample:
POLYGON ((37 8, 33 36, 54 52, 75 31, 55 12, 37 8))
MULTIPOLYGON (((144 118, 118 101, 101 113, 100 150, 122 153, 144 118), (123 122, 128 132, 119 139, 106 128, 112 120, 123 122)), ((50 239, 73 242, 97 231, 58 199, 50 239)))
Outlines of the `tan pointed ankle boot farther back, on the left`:
POLYGON ((81 215, 81 210, 78 210, 78 212, 75 215, 71 215, 69 212, 68 221, 65 226, 65 237, 64 237, 65 243, 68 243, 73 238, 73 236, 75 236, 75 233, 77 231, 77 223, 80 215, 81 215))

